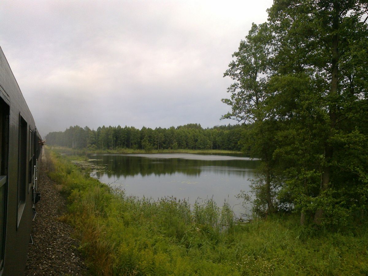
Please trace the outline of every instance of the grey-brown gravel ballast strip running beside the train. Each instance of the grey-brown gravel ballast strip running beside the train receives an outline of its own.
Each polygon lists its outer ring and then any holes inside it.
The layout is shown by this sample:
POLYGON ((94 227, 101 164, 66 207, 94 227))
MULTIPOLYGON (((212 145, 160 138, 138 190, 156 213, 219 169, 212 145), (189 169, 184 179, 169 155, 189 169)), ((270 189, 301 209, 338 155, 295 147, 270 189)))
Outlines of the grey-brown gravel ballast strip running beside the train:
POLYGON ((37 215, 32 224, 33 245, 29 245, 25 275, 88 275, 73 228, 59 217, 66 212, 66 201, 45 173, 45 155, 39 166, 37 215))

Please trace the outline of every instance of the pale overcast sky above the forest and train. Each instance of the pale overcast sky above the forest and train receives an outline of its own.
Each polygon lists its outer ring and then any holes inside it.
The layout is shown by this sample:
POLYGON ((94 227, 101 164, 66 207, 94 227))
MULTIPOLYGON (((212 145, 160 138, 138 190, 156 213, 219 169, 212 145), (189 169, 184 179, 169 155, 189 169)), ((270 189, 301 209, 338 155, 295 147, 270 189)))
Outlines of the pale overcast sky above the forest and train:
POLYGON ((272 0, 1 0, 0 46, 41 135, 71 125, 202 127, 272 0))

